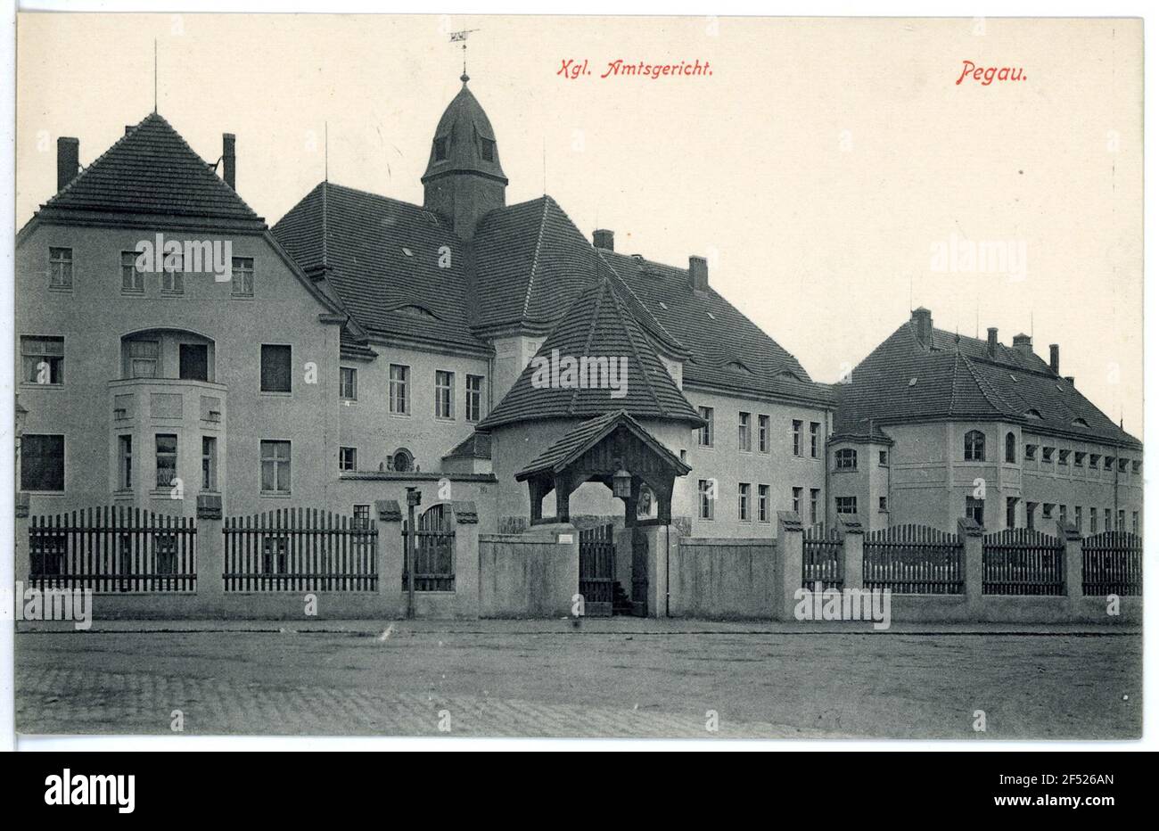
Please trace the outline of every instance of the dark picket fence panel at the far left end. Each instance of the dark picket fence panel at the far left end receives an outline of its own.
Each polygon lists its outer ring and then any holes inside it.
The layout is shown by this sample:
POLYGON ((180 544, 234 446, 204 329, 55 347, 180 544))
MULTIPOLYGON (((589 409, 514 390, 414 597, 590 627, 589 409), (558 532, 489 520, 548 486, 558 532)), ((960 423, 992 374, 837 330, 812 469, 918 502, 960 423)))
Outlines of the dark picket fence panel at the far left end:
POLYGON ((197 589, 197 526, 187 517, 129 505, 34 516, 28 553, 28 582, 37 589, 197 589))

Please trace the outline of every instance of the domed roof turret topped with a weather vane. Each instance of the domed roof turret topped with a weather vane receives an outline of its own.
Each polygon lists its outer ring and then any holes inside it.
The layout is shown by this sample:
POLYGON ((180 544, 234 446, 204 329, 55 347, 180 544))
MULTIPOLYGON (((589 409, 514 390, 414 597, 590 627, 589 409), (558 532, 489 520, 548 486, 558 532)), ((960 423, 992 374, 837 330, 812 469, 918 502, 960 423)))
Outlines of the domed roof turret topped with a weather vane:
POLYGON ((479 220, 505 203, 506 176, 491 123, 467 89, 447 105, 435 129, 431 158, 423 174, 423 207, 451 220, 464 240, 475 234, 479 220))

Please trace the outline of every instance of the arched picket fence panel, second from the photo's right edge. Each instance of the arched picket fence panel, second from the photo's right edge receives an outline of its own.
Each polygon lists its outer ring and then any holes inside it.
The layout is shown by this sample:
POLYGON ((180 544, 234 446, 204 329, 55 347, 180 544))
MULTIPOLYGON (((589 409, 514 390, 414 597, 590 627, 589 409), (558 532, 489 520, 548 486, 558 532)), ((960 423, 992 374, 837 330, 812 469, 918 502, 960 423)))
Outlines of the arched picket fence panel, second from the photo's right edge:
POLYGON ((982 593, 1065 595, 1063 541, 1029 529, 986 534, 982 538, 982 593))

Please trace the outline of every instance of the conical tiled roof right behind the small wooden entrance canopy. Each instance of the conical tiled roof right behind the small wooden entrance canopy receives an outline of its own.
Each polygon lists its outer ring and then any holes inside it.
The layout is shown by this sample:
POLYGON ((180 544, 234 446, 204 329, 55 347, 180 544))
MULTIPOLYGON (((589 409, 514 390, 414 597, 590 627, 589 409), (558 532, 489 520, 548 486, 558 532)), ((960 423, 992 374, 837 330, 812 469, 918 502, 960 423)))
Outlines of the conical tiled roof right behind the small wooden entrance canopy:
MULTIPOLYGON (((559 378, 563 378, 562 373, 559 378)), ((704 423, 628 312, 613 278, 605 274, 567 308, 535 357, 478 429, 542 418, 590 417, 621 409, 636 417, 704 423), (624 396, 613 398, 607 387, 578 388, 545 378, 545 362, 562 366, 560 362, 568 358, 606 359, 617 371, 624 396)))

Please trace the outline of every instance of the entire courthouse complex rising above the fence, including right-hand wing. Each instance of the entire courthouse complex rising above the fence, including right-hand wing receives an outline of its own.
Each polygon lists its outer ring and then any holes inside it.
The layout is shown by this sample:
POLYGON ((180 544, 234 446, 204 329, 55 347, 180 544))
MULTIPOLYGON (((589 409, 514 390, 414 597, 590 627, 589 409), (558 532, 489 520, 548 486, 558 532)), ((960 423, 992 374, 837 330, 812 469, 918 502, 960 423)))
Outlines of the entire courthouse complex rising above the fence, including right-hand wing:
POLYGON ((621 522, 622 483, 629 517, 697 537, 772 537, 778 511, 1138 526, 1142 446, 1056 348, 1048 366, 918 309, 850 384, 815 382, 705 258, 589 241, 547 195, 508 205, 467 81, 422 205, 323 181, 272 228, 232 134, 211 165, 154 112, 82 170, 60 139, 16 241, 28 510, 369 517, 414 487, 497 531, 621 522), (143 268, 151 246, 173 257, 143 268))

